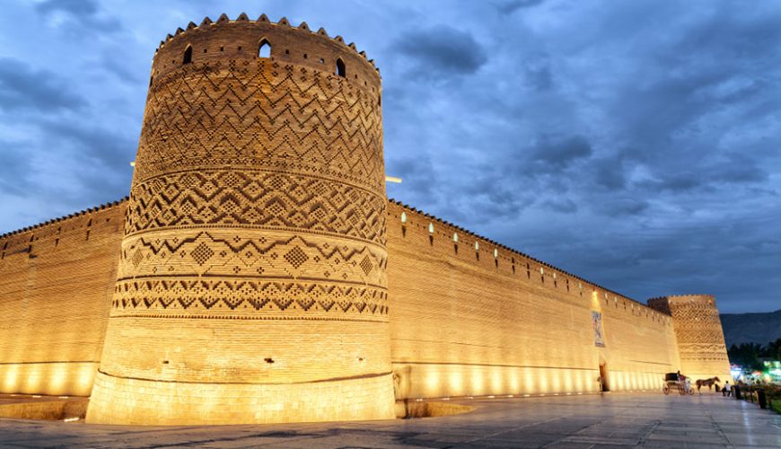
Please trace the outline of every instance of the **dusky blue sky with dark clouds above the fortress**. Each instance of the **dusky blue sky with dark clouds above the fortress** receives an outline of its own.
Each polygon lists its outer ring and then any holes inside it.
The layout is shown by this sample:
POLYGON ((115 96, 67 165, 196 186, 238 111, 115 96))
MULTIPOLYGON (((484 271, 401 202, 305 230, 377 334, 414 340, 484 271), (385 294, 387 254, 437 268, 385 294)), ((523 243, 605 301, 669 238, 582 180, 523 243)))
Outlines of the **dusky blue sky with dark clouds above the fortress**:
POLYGON ((4 1, 0 233, 126 196, 158 42, 242 11, 374 58, 391 198, 639 300, 781 308, 774 0, 4 1))

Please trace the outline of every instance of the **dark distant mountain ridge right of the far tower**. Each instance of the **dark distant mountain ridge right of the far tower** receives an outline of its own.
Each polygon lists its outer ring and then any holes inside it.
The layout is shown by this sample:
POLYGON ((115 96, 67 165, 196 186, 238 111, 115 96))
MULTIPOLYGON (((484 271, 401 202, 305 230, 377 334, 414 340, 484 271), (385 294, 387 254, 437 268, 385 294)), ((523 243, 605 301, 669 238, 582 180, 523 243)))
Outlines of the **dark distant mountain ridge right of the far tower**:
POLYGON ((766 313, 722 313, 727 348, 741 343, 767 345, 781 339, 781 309, 766 313))

